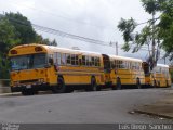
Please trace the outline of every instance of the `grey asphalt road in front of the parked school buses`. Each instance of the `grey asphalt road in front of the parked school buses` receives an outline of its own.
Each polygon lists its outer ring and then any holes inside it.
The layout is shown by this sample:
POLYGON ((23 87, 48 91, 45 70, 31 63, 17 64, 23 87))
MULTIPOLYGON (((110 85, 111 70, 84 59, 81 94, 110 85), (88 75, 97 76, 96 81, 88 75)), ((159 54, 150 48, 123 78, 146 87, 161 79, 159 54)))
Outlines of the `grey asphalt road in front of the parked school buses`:
POLYGON ((169 123, 147 115, 131 114, 154 103, 169 89, 133 89, 34 96, 0 96, 0 122, 22 123, 169 123))

